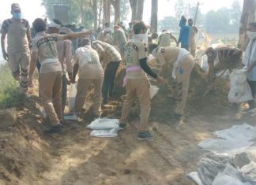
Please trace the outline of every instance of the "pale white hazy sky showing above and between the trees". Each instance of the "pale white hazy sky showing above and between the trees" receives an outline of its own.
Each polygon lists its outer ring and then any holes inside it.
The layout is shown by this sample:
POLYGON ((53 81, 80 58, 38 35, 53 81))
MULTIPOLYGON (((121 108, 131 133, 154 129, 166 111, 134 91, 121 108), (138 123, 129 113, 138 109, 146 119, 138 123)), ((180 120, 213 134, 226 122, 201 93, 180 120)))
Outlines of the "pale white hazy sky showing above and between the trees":
MULTIPOLYGON (((175 9, 173 8, 175 2, 179 0, 159 0, 159 20, 163 19, 166 16, 173 16, 175 14, 175 9)), ((21 11, 24 15, 24 18, 28 19, 29 23, 32 24, 32 21, 37 17, 43 17, 45 14, 45 9, 41 6, 41 0, 0 0, 0 21, 5 20, 6 18, 11 17, 10 15, 10 5, 13 2, 17 2, 21 5, 21 11)), ((190 0, 191 4, 196 4, 195 0, 190 0)), ((232 5, 233 0, 199 0, 202 2, 200 6, 201 12, 206 13, 210 9, 220 9, 220 7, 226 6, 229 7, 232 5)), ((241 6, 243 0, 239 0, 241 6)), ((145 0, 145 9, 144 17, 145 21, 149 21, 151 13, 151 0, 145 0)), ((185 12, 186 13, 186 12, 185 12)))

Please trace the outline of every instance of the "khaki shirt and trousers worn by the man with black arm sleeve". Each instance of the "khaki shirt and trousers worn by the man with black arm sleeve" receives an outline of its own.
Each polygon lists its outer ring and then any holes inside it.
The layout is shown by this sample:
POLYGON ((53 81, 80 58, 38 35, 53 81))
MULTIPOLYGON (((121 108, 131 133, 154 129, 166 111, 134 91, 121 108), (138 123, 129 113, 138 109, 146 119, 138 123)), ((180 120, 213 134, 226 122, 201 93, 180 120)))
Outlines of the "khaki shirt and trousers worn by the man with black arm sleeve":
POLYGON ((136 35, 126 43, 126 102, 122 107, 121 123, 126 123, 130 109, 136 98, 139 99, 141 107, 139 131, 148 131, 150 105, 150 83, 145 72, 136 70, 127 72, 127 68, 140 68, 140 60, 148 56, 148 47, 142 39, 136 39, 136 35))

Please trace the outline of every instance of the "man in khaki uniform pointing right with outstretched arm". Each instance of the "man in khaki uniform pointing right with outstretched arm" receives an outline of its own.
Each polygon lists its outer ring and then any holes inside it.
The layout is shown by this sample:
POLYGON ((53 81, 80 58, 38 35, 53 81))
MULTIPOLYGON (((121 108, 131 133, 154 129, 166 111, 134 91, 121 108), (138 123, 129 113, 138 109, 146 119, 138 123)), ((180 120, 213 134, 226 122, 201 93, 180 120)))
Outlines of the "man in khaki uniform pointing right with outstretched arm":
POLYGON ((33 22, 36 36, 32 39, 32 54, 29 66, 28 85, 32 87, 33 72, 36 68, 37 58, 40 61, 39 91, 43 108, 52 124, 44 131, 46 134, 62 130, 62 65, 58 61, 56 43, 58 40, 78 38, 88 35, 91 31, 70 33, 67 35, 47 34, 46 23, 37 18, 33 22))

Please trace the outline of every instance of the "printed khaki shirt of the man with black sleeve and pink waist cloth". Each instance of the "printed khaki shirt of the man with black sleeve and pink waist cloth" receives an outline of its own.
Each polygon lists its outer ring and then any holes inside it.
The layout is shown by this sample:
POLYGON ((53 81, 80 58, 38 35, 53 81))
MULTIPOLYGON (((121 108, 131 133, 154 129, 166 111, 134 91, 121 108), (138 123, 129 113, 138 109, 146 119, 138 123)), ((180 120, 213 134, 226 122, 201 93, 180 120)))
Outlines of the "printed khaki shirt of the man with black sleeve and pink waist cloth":
MULTIPOLYGON (((134 36, 125 46, 126 68, 140 66, 140 60, 148 57, 148 46, 142 39, 135 39, 134 36)), ((146 74, 142 69, 136 72, 126 72, 126 79, 143 79, 145 77, 146 74)))

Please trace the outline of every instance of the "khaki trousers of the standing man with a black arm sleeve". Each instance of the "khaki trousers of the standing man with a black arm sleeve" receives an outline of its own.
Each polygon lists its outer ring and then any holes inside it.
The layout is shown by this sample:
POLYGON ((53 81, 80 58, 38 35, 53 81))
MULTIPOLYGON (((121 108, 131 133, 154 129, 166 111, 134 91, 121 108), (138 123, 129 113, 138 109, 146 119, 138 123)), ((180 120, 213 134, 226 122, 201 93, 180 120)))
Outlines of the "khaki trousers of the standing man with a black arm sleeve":
POLYGON ((127 117, 129 116, 130 109, 136 98, 139 99, 139 103, 141 107, 139 131, 148 131, 151 102, 150 102, 150 83, 149 83, 149 80, 147 79, 127 80, 126 102, 124 102, 122 106, 122 117, 120 119, 120 123, 127 122, 127 117))

